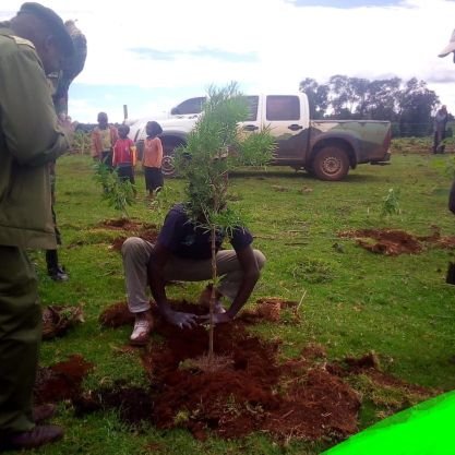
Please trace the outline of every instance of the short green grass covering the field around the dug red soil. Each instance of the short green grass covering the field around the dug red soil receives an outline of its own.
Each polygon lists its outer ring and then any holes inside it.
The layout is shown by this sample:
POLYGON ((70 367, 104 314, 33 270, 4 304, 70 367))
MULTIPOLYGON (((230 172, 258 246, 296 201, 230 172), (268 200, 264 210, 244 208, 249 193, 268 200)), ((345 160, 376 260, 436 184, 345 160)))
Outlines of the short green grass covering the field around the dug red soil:
MULTIPOLYGON (((267 256, 251 304, 260 297, 299 301, 301 322, 263 324, 255 332, 283 339, 283 356, 291 357, 309 342, 327 347, 330 359, 374 350, 386 371, 411 383, 441 391, 455 388, 455 287, 445 284, 454 251, 430 248, 417 255, 388 258, 372 254, 337 232, 356 228, 397 228, 430 234, 432 225, 444 236, 455 235, 455 217, 447 211, 451 181, 444 176, 447 156, 396 155, 391 166, 367 166, 350 171, 343 182, 322 182, 287 168, 243 170, 230 177, 230 204, 248 216, 256 236, 254 246, 267 256), (381 217, 388 189, 399 190, 402 213, 381 217)), ((119 354, 129 328, 104 330, 98 315, 107 306, 123 301, 120 254, 109 249, 116 232, 96 229, 106 218, 120 215, 101 201, 93 179, 91 158, 68 156, 57 166, 57 213, 62 231, 61 262, 68 283, 53 283, 45 273, 44 253, 37 264, 43 304, 83 304, 86 322, 65 337, 45 342, 41 364, 81 354, 95 364, 84 383, 123 379, 141 385, 146 379, 137 355, 119 354)), ((167 208, 183 196, 184 182, 166 180, 165 197, 151 207, 142 173, 137 175, 134 218, 161 224, 167 208)), ((169 296, 196 299, 201 284, 170 287, 169 296)), ((371 403, 362 409, 361 427, 379 419, 371 403)), ((333 445, 291 442, 279 447, 263 434, 241 441, 212 438, 196 442, 184 431, 134 432, 115 414, 77 419, 69 404, 60 405, 57 422, 65 439, 36 454, 316 454, 333 445)))

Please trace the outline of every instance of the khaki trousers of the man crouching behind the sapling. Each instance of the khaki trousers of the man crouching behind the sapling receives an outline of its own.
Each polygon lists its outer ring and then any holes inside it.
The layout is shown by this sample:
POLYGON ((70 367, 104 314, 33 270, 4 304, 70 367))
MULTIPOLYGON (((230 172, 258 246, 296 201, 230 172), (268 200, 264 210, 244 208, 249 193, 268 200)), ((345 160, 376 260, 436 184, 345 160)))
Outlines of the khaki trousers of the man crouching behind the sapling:
MULTIPOLYGON (((148 285, 147 265, 154 244, 139 237, 130 237, 122 246, 124 278, 128 306, 132 313, 147 311, 149 302, 146 295, 148 285)), ((265 256, 253 250, 259 268, 265 263, 265 256)), ((216 268, 221 277, 218 291, 234 300, 243 279, 243 271, 234 250, 216 253, 216 268)), ((212 279, 212 260, 194 261, 171 256, 166 264, 164 277, 168 282, 204 282, 212 279)))

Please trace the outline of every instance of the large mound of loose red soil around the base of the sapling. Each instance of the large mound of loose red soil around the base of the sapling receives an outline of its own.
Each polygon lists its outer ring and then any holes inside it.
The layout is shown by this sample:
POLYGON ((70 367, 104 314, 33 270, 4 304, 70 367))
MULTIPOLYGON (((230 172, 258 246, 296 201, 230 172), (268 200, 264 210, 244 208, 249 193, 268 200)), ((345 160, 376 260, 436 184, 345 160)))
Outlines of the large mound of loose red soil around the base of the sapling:
POLYGON ((146 350, 143 363, 158 428, 187 428, 197 439, 207 430, 227 439, 261 430, 278 440, 345 438, 357 430, 360 402, 349 385, 310 361, 280 363, 279 343, 248 334, 241 320, 216 328, 215 354, 231 362, 214 372, 188 362, 206 352, 205 328, 181 331, 158 318, 156 332, 164 343, 146 350))

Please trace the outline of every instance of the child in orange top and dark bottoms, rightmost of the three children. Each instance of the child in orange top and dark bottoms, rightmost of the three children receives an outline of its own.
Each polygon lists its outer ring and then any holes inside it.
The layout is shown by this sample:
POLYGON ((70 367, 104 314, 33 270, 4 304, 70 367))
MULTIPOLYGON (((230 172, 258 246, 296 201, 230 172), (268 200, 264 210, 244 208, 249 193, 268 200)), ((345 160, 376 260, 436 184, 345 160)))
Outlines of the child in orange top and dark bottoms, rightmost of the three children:
POLYGON ((142 165, 144 166, 145 188, 153 199, 165 184, 161 172, 163 144, 158 137, 163 129, 158 122, 149 121, 145 131, 147 137, 144 141, 142 165))

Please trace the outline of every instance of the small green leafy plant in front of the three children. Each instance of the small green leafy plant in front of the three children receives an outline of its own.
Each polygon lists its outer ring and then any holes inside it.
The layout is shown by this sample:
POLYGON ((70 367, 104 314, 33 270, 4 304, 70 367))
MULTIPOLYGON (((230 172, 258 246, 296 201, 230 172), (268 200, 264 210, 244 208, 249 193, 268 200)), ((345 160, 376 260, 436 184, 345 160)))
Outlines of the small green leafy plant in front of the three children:
POLYGON ((122 218, 130 218, 127 207, 134 203, 134 185, 129 180, 121 180, 116 170, 109 169, 103 161, 94 165, 95 180, 103 187, 103 199, 108 205, 119 211, 122 218))

